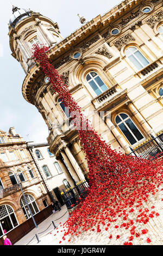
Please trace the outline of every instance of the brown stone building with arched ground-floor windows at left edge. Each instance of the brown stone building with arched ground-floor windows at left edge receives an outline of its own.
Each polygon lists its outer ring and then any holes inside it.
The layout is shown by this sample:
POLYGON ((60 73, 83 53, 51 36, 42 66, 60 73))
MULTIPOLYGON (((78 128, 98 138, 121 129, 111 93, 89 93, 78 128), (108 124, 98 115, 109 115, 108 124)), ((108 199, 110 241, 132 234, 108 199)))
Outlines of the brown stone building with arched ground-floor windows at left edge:
POLYGON ((33 228, 32 218, 15 174, 32 214, 41 222, 45 219, 43 212, 47 214, 46 208, 51 200, 26 142, 11 127, 8 135, 0 130, 0 244, 5 232, 14 242, 33 228))

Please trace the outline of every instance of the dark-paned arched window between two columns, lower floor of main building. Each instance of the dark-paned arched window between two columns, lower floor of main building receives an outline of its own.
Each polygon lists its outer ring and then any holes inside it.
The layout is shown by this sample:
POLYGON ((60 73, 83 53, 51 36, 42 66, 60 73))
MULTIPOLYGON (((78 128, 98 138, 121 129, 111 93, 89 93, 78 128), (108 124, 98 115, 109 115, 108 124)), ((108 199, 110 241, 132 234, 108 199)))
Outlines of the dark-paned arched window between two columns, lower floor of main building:
POLYGON ((115 121, 131 145, 134 145, 144 138, 127 114, 118 114, 115 121))

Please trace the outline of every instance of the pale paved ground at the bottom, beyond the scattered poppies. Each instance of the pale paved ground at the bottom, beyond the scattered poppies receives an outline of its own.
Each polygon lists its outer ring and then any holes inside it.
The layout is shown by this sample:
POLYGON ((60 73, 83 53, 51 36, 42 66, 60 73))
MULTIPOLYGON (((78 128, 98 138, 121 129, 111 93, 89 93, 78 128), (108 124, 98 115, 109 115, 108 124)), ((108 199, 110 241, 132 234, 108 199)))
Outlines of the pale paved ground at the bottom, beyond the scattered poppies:
MULTIPOLYGON (((147 224, 135 223, 136 224, 136 232, 141 234, 141 230, 144 228, 148 229, 148 233, 145 235, 141 235, 140 237, 135 237, 132 241, 133 245, 163 245, 163 201, 162 199, 162 191, 160 190, 154 196, 151 194, 148 197, 148 202, 143 203, 143 208, 151 209, 152 205, 155 205, 155 212, 159 212, 160 216, 150 218, 147 224), (151 242, 148 243, 147 239, 151 239, 151 242)), ((138 209, 135 209, 136 214, 138 214, 138 209)), ((129 219, 134 219, 133 213, 131 213, 128 217, 129 219)), ((15 245, 123 245, 125 241, 129 241, 130 231, 126 228, 118 228, 115 229, 115 224, 119 227, 124 222, 121 217, 117 217, 117 221, 112 222, 108 228, 105 230, 105 227, 102 227, 101 232, 97 233, 97 231, 82 231, 80 229, 80 234, 77 235, 66 235, 64 237, 65 228, 63 223, 68 219, 68 212, 66 206, 62 206, 61 211, 55 212, 49 216, 45 221, 38 225, 37 230, 33 229, 24 236, 20 241, 15 243, 15 245), (57 228, 54 229, 52 224, 54 221, 57 228), (50 227, 49 227, 50 225, 50 227), (35 233, 39 235, 40 242, 37 243, 37 239, 35 237, 35 233), (41 233, 41 234, 39 234, 41 233), (112 238, 109 239, 110 235, 112 238), (120 235, 120 238, 117 239, 117 235, 120 235), (34 239, 33 239, 34 237, 34 239), (62 237, 65 239, 63 240, 62 237), (32 241, 30 241, 32 240, 32 241), (30 241, 30 242, 29 242, 30 241)), ((106 223, 107 224, 107 223, 106 223)), ((96 229, 96 228, 95 228, 96 229)))

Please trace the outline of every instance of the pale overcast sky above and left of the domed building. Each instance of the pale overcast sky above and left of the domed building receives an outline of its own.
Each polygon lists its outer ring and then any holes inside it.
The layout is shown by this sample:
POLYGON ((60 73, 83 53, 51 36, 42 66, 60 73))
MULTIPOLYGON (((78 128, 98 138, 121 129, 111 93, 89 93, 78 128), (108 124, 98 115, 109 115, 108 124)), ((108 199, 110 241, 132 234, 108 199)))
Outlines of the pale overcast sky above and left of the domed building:
POLYGON ((1 1, 0 13, 0 67, 1 67, 1 98, 0 98, 0 130, 9 131, 14 126, 25 141, 36 143, 47 142, 48 129, 41 114, 34 105, 22 96, 22 82, 26 76, 20 63, 11 56, 8 36, 8 22, 12 15, 12 4, 19 8, 41 13, 57 22, 62 36, 70 35, 78 27, 79 17, 84 16, 90 21, 97 15, 103 15, 120 0, 5 0, 1 1))

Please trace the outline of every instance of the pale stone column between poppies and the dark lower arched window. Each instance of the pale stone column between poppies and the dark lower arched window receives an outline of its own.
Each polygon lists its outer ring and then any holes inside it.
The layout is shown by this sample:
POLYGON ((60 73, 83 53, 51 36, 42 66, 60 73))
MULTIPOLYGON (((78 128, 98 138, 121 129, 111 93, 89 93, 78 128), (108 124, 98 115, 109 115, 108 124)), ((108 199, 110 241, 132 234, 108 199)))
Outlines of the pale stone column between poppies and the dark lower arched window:
POLYGON ((112 121, 109 118, 106 118, 106 124, 108 124, 110 130, 112 131, 113 135, 117 139, 117 141, 120 143, 121 147, 124 149, 126 152, 131 152, 129 144, 124 140, 122 137, 121 133, 117 130, 115 125, 112 123, 112 121))

